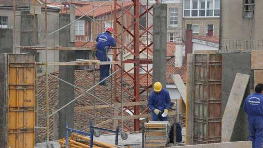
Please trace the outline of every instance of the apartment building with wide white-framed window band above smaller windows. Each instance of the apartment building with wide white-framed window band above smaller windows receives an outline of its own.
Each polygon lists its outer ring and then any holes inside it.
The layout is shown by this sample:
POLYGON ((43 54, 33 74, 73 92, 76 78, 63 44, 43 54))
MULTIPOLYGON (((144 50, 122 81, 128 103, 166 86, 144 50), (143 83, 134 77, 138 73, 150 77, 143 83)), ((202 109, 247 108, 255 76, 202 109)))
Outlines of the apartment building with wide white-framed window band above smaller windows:
POLYGON ((207 36, 209 24, 219 36, 220 0, 184 0, 183 18, 183 29, 192 24, 193 36, 207 36))

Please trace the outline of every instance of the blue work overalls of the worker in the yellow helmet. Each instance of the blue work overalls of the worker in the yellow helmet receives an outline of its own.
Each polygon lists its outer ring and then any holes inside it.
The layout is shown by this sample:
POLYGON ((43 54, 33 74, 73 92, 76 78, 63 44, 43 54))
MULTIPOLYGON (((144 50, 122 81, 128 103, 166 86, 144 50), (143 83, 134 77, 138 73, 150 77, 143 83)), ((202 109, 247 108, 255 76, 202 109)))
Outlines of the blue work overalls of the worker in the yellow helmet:
POLYGON ((169 109, 171 98, 169 92, 162 89, 159 93, 152 91, 148 99, 148 107, 152 110, 152 121, 168 121, 168 116, 162 117, 164 109, 169 109), (159 109, 161 112, 156 115, 154 110, 159 109))

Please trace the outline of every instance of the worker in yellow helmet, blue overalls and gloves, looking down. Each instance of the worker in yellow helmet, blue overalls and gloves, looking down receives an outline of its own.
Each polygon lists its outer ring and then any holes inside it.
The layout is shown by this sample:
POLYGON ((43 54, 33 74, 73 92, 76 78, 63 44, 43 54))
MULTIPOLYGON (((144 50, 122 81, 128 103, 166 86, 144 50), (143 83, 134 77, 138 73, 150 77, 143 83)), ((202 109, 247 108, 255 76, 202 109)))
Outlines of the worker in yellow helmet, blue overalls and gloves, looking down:
POLYGON ((160 82, 155 82, 153 89, 148 99, 148 107, 152 110, 152 121, 168 121, 171 105, 169 92, 162 88, 160 82))

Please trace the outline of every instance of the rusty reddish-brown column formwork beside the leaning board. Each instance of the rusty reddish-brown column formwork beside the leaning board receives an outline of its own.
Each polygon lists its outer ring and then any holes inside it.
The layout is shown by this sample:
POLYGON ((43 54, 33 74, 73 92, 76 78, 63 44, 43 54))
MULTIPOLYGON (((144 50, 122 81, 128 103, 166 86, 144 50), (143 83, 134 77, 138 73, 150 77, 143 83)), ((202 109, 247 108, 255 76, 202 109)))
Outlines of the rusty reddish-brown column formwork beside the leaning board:
POLYGON ((221 142, 222 55, 195 54, 194 144, 221 142))

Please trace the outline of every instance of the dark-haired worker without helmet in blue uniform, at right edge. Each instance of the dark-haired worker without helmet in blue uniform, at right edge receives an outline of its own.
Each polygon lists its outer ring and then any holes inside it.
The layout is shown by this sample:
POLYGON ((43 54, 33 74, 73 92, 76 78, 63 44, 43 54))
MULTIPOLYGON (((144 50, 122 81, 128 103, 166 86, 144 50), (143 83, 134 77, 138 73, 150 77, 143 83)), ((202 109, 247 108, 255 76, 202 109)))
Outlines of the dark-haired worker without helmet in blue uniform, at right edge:
POLYGON ((249 95, 243 109, 248 115, 249 140, 253 148, 263 148, 263 84, 255 87, 254 94, 249 95))

